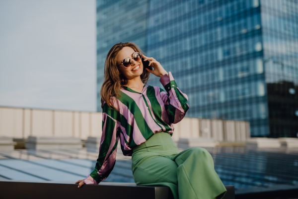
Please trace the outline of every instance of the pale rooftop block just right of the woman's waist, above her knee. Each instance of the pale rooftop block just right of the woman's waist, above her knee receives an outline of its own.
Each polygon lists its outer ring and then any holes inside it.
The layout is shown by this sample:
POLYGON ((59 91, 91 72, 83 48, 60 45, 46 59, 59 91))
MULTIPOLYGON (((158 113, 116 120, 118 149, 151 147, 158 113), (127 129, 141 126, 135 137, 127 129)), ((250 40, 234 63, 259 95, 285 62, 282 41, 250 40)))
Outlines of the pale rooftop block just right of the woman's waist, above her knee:
POLYGON ((209 138, 179 138, 177 147, 215 147, 217 144, 217 141, 209 138))

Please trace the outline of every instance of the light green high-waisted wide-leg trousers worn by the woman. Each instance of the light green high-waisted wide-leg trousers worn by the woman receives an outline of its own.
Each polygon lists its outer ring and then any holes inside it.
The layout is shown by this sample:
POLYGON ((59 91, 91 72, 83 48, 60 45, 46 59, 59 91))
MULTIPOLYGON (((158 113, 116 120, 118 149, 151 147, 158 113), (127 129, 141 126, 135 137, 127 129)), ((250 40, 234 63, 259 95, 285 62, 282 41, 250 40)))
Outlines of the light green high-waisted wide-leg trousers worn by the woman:
POLYGON ((132 171, 137 185, 167 186, 174 199, 222 199, 226 193, 211 154, 201 147, 180 152, 165 132, 133 149, 132 171))

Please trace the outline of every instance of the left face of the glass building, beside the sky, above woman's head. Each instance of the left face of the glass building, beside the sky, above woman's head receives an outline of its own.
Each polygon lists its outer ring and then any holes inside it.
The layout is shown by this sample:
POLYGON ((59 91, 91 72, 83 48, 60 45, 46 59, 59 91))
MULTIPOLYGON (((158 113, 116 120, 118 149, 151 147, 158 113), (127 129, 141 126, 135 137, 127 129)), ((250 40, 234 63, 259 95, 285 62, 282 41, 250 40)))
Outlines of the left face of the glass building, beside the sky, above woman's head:
POLYGON ((97 111, 102 111, 100 89, 110 48, 133 41, 146 52, 148 0, 96 0, 97 111))

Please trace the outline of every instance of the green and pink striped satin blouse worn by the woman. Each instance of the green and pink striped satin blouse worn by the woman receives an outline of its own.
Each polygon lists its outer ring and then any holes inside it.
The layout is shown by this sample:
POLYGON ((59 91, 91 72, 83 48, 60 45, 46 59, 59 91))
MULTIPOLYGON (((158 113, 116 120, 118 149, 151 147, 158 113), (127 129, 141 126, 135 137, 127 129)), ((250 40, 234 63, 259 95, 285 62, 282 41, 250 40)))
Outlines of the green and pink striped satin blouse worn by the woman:
POLYGON ((123 155, 131 156, 135 146, 146 142, 156 132, 172 136, 173 124, 181 121, 189 108, 188 97, 178 89, 171 72, 159 81, 165 91, 144 85, 139 93, 122 86, 121 98, 111 97, 119 111, 111 109, 104 101, 99 155, 95 169, 84 179, 85 184, 98 184, 109 176, 115 166, 119 138, 123 155))

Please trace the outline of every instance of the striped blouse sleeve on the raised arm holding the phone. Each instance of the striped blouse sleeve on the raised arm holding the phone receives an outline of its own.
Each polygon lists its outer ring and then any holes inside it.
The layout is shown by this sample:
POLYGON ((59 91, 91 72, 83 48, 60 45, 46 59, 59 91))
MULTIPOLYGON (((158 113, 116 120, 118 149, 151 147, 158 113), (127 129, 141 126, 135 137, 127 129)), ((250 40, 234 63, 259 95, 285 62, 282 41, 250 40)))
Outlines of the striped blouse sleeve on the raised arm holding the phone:
POLYGON ((159 79, 166 91, 160 88, 159 94, 169 115, 170 122, 175 124, 183 119, 189 108, 188 97, 178 89, 172 73, 168 73, 169 75, 165 74, 159 79))

